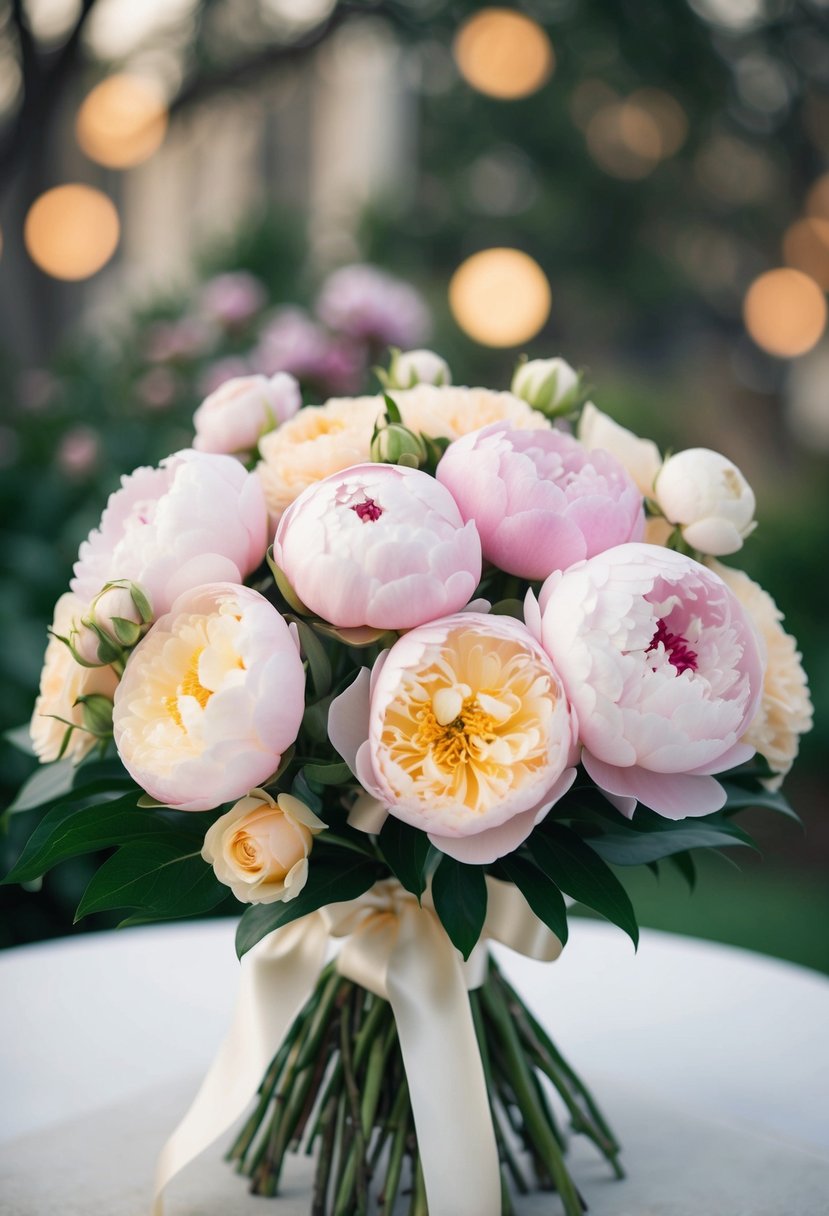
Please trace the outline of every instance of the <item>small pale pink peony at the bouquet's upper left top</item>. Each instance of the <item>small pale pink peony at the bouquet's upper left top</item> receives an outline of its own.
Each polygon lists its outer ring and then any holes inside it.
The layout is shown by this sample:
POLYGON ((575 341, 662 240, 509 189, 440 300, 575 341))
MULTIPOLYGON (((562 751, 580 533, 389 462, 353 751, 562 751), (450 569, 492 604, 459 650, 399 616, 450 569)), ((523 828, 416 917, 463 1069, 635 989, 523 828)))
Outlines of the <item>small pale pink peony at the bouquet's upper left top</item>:
POLYGON ((299 384, 286 372, 225 381, 193 415, 193 447, 248 456, 261 435, 292 418, 303 404, 299 384))

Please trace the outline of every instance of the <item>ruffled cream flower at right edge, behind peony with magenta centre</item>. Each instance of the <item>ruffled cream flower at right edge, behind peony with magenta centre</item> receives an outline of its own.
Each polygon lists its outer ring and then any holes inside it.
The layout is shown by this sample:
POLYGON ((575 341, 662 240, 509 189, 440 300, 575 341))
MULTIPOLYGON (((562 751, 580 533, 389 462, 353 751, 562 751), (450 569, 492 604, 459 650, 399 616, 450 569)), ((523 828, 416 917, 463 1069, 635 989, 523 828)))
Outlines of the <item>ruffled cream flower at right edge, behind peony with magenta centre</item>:
POLYGON ((743 604, 765 649, 762 698, 743 742, 766 758, 778 775, 766 784, 778 789, 795 762, 800 736, 812 728, 812 702, 797 643, 783 629, 780 609, 754 579, 720 562, 709 565, 743 604))

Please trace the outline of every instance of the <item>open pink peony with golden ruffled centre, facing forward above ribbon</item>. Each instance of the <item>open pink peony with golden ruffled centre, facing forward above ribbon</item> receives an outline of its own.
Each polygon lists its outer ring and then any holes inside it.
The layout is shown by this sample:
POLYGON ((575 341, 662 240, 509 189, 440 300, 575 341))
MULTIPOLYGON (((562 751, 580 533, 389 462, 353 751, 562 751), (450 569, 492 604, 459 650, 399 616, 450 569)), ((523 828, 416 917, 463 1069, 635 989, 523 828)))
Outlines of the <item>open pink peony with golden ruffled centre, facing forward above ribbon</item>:
POLYGON ((570 788, 574 720, 520 621, 457 613, 406 634, 331 706, 363 788, 458 861, 512 852, 570 788))

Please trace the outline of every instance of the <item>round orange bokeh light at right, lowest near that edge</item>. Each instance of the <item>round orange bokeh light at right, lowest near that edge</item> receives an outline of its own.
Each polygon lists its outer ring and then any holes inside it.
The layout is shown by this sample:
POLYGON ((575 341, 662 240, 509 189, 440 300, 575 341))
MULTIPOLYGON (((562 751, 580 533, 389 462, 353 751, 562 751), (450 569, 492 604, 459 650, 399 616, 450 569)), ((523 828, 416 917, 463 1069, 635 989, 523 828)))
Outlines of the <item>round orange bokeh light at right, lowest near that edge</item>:
POLYGON ((749 287, 743 303, 745 327, 758 347, 780 359, 805 355, 827 325, 823 292, 800 270, 768 270, 749 287))

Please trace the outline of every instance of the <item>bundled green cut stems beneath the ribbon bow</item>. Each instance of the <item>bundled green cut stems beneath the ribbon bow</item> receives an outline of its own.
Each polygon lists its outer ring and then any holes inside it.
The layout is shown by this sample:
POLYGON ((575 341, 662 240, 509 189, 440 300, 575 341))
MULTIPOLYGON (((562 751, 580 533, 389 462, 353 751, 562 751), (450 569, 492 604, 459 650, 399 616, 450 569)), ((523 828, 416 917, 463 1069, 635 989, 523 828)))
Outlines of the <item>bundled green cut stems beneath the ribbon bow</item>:
MULTIPOLYGON (((503 1216, 513 1193, 557 1190, 566 1216, 586 1205, 564 1160, 557 1094, 574 1133, 622 1177, 619 1143, 593 1097, 490 959, 469 993, 501 1159, 503 1216)), ((278 1190, 288 1150, 316 1152, 311 1216, 428 1216, 406 1073, 391 1007, 334 963, 320 975, 259 1088, 229 1159, 260 1195, 278 1190)))

